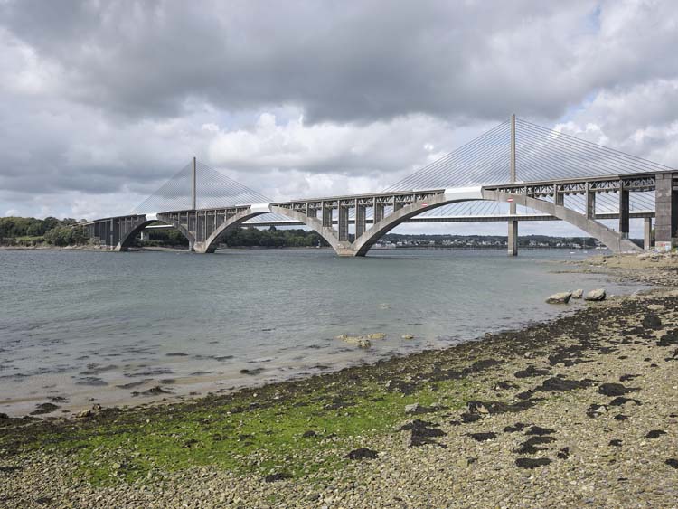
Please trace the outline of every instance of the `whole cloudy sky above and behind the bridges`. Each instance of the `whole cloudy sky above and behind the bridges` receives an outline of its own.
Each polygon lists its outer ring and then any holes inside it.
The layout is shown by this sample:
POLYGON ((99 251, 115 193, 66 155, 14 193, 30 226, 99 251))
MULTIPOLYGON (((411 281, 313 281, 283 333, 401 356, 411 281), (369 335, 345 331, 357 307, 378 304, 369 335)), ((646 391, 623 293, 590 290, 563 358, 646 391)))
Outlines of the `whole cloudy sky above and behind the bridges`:
POLYGON ((193 156, 375 192, 512 113, 678 167, 677 48, 672 0, 0 0, 0 215, 127 213, 193 156))

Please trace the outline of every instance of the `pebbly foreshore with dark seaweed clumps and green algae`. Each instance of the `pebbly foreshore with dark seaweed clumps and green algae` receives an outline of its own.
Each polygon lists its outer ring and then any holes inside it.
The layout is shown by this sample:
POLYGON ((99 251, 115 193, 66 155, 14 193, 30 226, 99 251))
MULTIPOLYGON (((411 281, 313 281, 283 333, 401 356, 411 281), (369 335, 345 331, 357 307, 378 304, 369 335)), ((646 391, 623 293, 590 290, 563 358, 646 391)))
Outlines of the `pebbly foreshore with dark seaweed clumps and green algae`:
POLYGON ((678 257, 573 269, 656 288, 228 396, 0 417, 0 507, 678 507, 678 257))

